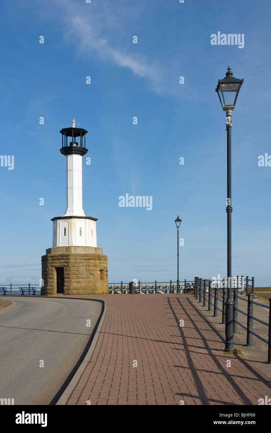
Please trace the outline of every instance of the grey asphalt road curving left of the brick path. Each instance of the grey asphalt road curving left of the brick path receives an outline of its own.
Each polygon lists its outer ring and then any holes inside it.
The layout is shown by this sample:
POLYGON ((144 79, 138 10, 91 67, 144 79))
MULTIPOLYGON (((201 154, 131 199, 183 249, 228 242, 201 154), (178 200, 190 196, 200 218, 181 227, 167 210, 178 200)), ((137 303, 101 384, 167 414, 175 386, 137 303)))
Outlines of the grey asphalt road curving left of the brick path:
POLYGON ((0 312, 0 398, 14 398, 15 405, 49 404, 84 351, 101 303, 5 298, 18 305, 0 312))

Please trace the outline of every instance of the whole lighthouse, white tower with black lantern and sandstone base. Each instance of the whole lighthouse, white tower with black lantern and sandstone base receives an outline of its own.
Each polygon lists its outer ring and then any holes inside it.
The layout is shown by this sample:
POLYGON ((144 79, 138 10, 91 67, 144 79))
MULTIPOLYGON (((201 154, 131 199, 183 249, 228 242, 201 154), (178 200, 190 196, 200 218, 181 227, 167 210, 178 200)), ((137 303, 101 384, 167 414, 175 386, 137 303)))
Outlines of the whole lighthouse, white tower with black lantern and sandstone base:
POLYGON ((97 248, 96 221, 82 200, 82 159, 86 129, 61 129, 60 152, 66 158, 66 210, 53 221, 53 245, 42 256, 42 294, 108 293, 107 256, 97 248), (71 141, 70 141, 71 140, 71 141))

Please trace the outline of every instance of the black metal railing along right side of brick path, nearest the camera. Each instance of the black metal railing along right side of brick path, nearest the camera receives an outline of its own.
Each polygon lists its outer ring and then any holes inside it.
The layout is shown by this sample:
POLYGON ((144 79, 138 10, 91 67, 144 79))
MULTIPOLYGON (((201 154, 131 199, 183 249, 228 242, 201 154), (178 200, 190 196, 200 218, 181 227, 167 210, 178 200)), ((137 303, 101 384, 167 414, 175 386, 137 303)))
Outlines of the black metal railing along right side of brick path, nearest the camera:
MULTIPOLYGON (((246 330, 246 346, 254 346, 253 345, 253 336, 257 337, 264 343, 268 345, 268 360, 267 364, 271 364, 271 297, 269 298, 269 305, 261 304, 259 302, 253 301, 254 299, 254 277, 249 279, 245 277, 245 285, 243 287, 242 292, 245 293, 245 297, 239 296, 240 288, 238 284, 235 287, 232 287, 233 293, 233 333, 237 333, 238 325, 246 330), (251 282, 251 284, 249 284, 251 282), (251 290, 250 290, 251 289, 251 290), (247 302, 247 311, 242 311, 238 308, 238 300, 247 302), (269 322, 265 322, 264 320, 258 319, 258 317, 253 316, 253 305, 258 305, 260 307, 268 308, 269 310, 269 322), (243 325, 238 321, 238 313, 241 313, 247 317, 247 326, 243 325), (259 334, 253 331, 253 320, 262 325, 268 326, 268 339, 260 336, 259 334)), ((227 286, 225 284, 226 280, 222 279, 222 288, 219 288, 219 284, 215 284, 213 287, 213 281, 209 279, 202 279, 195 277, 195 299, 199 299, 199 302, 203 302, 203 307, 206 307, 208 302, 208 311, 212 311, 213 307, 213 317, 218 316, 218 312, 222 313, 222 323, 225 323, 226 319, 226 308, 225 302, 227 299, 227 286), (207 299, 207 284, 208 284, 208 299, 207 299), (214 289, 214 294, 213 294, 214 289), (213 300, 213 302, 212 302, 213 300), (221 302, 222 308, 218 307, 218 302, 221 302)))

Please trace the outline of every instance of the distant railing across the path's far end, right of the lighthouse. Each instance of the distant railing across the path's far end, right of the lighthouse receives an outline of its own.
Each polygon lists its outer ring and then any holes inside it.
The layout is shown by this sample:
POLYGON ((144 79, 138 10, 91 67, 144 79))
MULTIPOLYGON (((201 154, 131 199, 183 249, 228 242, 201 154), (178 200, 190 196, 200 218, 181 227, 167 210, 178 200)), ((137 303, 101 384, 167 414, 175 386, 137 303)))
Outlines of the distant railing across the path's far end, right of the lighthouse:
MULTIPOLYGON (((154 293, 176 293, 177 294, 177 281, 164 281, 164 282, 151 282, 142 283, 141 281, 134 283, 135 292, 141 294, 154 294, 154 293)), ((194 281, 180 281, 180 293, 194 292, 194 281)), ((108 290, 110 294, 129 294, 129 283, 108 283, 108 290)))

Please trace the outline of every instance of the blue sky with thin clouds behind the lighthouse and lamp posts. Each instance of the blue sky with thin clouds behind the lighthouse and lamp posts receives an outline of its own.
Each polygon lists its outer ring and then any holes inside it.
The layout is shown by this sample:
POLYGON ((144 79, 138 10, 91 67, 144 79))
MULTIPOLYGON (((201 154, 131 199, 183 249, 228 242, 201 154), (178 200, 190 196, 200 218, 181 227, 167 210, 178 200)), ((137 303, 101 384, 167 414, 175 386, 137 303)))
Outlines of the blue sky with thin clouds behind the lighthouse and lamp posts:
POLYGON ((177 214, 180 279, 226 275, 226 116, 215 88, 230 65, 244 78, 232 116, 232 275, 270 286, 271 167, 258 155, 271 155, 271 5, 15 0, 1 14, 0 153, 14 169, 0 167, 0 284, 41 278, 51 218, 66 209, 59 131, 73 118, 88 131, 83 208, 98 218, 109 282, 176 280, 177 214), (218 31, 244 34, 244 48, 211 45, 218 31), (126 193, 151 195, 153 209, 119 207, 126 193))

